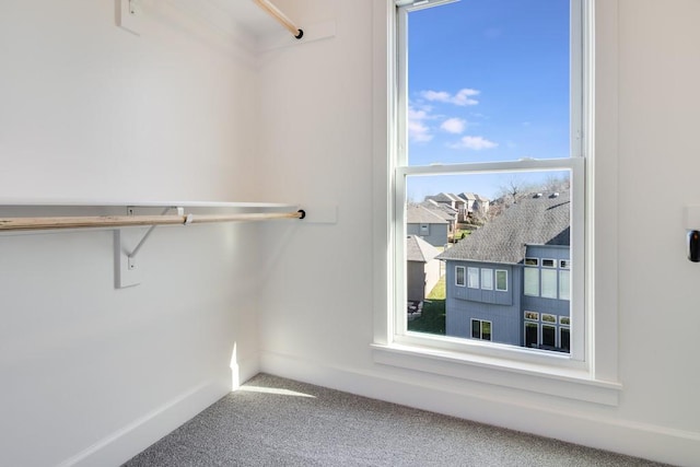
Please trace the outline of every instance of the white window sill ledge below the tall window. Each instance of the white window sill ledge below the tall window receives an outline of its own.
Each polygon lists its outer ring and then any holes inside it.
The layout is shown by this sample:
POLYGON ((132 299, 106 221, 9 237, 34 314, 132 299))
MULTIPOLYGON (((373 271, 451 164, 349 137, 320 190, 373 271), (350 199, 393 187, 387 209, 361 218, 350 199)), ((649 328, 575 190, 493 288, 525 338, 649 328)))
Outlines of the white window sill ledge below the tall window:
POLYGON ((605 406, 617 406, 622 385, 587 371, 515 362, 398 343, 372 345, 374 362, 605 406))

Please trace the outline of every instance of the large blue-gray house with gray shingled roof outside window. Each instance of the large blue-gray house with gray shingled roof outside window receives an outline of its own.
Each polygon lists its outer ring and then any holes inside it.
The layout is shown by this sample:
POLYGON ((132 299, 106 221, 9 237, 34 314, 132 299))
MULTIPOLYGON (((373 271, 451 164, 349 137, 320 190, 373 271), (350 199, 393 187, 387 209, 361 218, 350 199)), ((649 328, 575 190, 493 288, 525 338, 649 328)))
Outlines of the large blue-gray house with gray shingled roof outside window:
POLYGON ((569 350, 569 192, 512 205, 445 250, 446 335, 569 350))

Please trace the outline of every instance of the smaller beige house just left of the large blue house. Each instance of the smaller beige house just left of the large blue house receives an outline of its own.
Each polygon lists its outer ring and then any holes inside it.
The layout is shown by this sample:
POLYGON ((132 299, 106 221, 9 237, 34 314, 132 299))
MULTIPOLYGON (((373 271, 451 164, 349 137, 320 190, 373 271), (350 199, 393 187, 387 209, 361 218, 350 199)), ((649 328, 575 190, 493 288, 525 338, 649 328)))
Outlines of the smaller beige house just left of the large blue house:
POLYGON ((406 287, 409 301, 422 302, 440 280, 440 250, 416 235, 406 237, 406 287))

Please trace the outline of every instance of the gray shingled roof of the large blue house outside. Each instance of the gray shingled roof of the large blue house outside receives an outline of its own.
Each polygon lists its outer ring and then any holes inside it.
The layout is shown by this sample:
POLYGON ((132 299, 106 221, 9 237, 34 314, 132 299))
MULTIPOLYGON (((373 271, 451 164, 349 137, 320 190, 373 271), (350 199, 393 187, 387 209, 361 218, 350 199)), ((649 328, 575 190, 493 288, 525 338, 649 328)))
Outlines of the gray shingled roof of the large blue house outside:
POLYGON ((569 191, 529 195, 438 258, 518 264, 528 244, 568 246, 570 207, 569 191))

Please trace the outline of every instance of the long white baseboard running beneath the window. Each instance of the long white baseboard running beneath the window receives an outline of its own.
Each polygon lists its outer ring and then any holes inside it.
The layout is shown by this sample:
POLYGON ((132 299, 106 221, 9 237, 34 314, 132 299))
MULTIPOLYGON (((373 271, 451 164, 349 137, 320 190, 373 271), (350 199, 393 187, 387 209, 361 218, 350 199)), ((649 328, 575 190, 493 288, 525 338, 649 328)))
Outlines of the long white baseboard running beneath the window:
POLYGON ((423 410, 509 428, 599 450, 677 466, 697 466, 700 433, 621 420, 580 409, 544 408, 517 398, 474 395, 423 384, 412 372, 398 380, 381 369, 369 372, 303 361, 272 352, 260 353, 260 371, 318 386, 416 407, 423 410))

